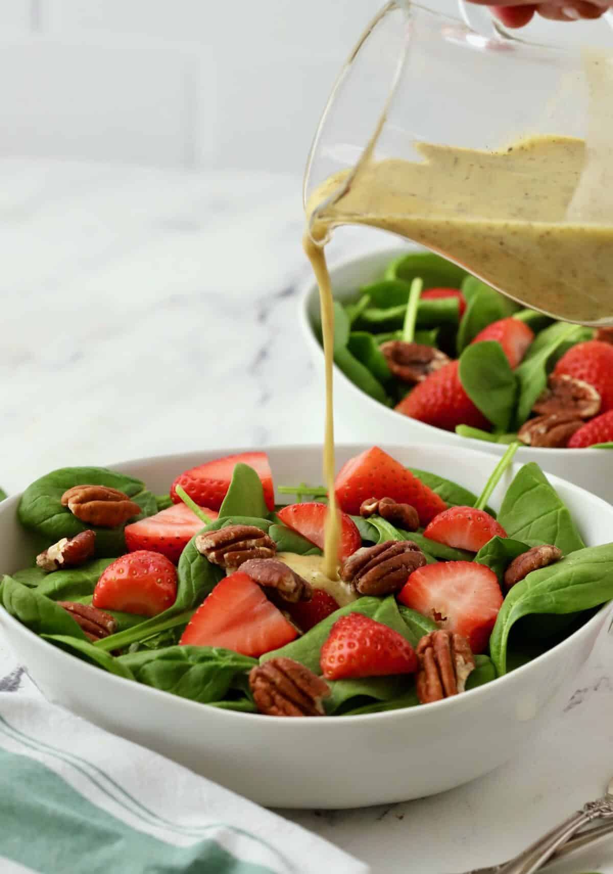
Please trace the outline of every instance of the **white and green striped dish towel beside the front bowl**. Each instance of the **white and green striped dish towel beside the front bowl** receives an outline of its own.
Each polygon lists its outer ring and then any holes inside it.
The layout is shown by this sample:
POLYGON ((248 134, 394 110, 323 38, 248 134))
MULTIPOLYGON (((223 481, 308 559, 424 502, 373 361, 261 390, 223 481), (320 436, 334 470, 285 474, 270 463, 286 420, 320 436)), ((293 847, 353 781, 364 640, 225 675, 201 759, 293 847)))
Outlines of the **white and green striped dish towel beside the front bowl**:
POLYGON ((2 874, 368 874, 368 866, 35 690, 0 692, 2 874))

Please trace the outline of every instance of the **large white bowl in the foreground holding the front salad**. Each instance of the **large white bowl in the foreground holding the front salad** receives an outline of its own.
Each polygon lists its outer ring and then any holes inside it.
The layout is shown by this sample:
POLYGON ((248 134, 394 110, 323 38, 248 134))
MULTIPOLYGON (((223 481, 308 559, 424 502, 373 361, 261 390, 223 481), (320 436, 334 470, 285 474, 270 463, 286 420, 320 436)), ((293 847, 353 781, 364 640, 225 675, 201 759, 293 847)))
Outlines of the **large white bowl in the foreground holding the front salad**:
MULTIPOLYGON (((337 447, 338 464, 364 447, 337 447)), ((406 465, 436 471, 479 491, 492 456, 455 447, 386 447, 406 465)), ((139 476, 155 493, 185 468, 239 449, 166 455, 115 469, 139 476)), ((268 449, 277 483, 320 482, 320 447, 268 449)), ((492 495, 499 506, 509 470, 492 495)), ((551 477, 589 545, 610 541, 613 508, 551 477)), ((16 510, 0 503, 2 570, 31 559, 16 510)), ((107 674, 45 642, 0 609, 18 658, 51 701, 149 746, 254 801, 271 807, 351 808, 403 801, 473 780, 513 756, 573 690, 610 606, 524 667, 446 701, 404 711, 344 718, 272 718, 217 710, 107 674)))

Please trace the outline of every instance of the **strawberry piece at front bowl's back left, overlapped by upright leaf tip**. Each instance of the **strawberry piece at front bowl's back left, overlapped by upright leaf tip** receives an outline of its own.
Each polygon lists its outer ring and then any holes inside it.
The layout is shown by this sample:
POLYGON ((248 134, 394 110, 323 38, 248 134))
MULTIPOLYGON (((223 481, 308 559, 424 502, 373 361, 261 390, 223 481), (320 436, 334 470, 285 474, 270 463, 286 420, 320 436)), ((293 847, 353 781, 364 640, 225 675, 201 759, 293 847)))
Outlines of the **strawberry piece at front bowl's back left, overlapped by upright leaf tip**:
POLYGON ((271 466, 265 452, 243 452, 238 455, 227 455, 215 461, 207 461, 197 468, 183 471, 176 477, 170 488, 173 503, 179 503, 181 498, 176 494, 176 486, 181 486, 200 507, 212 507, 219 510, 225 493, 230 488, 232 473, 235 466, 242 462, 253 468, 262 481, 266 506, 274 510, 274 489, 272 487, 271 466))

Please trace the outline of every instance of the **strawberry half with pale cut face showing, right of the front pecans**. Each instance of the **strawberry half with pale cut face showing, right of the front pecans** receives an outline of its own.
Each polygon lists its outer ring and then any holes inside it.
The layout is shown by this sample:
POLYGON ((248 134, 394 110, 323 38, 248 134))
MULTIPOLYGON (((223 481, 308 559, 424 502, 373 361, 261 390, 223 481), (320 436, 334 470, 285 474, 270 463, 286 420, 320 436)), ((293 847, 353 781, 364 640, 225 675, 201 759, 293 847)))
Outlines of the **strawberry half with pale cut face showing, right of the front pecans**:
POLYGON ((398 600, 429 616, 440 628, 467 637, 473 653, 486 649, 502 607, 496 574, 472 561, 440 561, 418 568, 398 600))

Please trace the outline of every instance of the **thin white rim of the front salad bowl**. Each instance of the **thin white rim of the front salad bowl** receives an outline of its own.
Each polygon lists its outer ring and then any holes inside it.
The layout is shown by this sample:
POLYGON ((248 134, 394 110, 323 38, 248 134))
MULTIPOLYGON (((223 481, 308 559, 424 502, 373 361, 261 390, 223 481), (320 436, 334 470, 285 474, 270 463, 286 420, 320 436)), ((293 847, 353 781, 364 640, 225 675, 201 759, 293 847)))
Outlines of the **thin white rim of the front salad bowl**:
MULTIPOLYGON (((347 448, 352 452, 354 450, 356 452, 360 452, 360 451, 363 451, 365 444, 343 442, 343 443, 337 443, 336 447, 337 448, 347 448)), ((385 451, 389 451, 389 454, 393 455, 394 452, 399 452, 399 451, 404 452, 404 451, 411 449, 411 448, 419 448, 419 444, 415 444, 415 443, 414 444, 407 444, 406 446, 403 446, 403 447, 400 447, 397 444, 396 445, 384 444, 384 447, 385 447, 385 451)), ((471 449, 468 447, 450 447, 450 448, 452 451, 456 451, 459 448, 460 451, 466 452, 467 454, 470 454, 472 456, 481 456, 484 463, 486 463, 486 462, 490 463, 490 464, 492 463, 492 455, 487 454, 486 452, 482 452, 482 451, 479 452, 477 450, 474 450, 474 449, 471 449)), ((304 444, 295 444, 295 445, 294 444, 265 444, 262 447, 258 447, 258 451, 262 451, 262 452, 268 452, 268 451, 271 451, 271 452, 277 451, 278 452, 281 450, 282 451, 287 451, 287 450, 291 451, 293 449, 296 449, 296 450, 306 449, 307 451, 319 451, 319 452, 322 451, 321 445, 319 443, 304 443, 304 444)), ((130 465, 155 464, 155 463, 160 463, 160 462, 162 462, 162 463, 171 462, 172 463, 172 461, 174 461, 174 460, 177 460, 177 461, 181 460, 180 463, 184 464, 185 459, 186 458, 189 459, 190 456, 193 457, 193 459, 195 461, 197 461, 197 460, 202 460, 203 454, 211 454, 211 455, 218 454, 218 457, 221 457, 221 455, 223 455, 223 454, 232 455, 232 454, 239 454, 239 453, 243 453, 243 452, 252 452, 252 451, 253 451, 253 447, 224 447, 223 449, 205 449, 203 451, 192 451, 192 452, 187 452, 187 453, 171 453, 171 454, 164 454, 164 455, 144 456, 141 458, 131 459, 130 461, 117 461, 117 462, 114 462, 113 464, 103 465, 103 467, 107 467, 110 469, 121 471, 124 468, 129 468, 130 465)), ((188 461, 188 463, 189 463, 189 461, 188 461)), ((519 462, 514 461, 513 465, 511 466, 511 469, 513 470, 513 468, 520 468, 521 466, 522 465, 519 462)), ((517 471, 515 471, 515 472, 517 472, 517 471)), ((579 492, 582 494, 584 493, 584 494, 588 495, 591 500, 596 501, 596 503, 600 503, 602 505, 603 512, 613 513, 613 507, 611 507, 611 505, 609 503, 604 501, 603 498, 598 497, 596 495, 593 495, 591 492, 588 492, 587 489, 582 489, 581 486, 577 486, 573 482, 568 482, 567 480, 562 479, 560 476, 555 476, 553 474, 548 474, 548 478, 550 478, 554 481, 554 482, 552 482, 552 485, 554 485, 554 487, 555 487, 556 482, 563 482, 565 486, 567 486, 569 489, 571 489, 571 491, 576 491, 576 492, 579 492)), ((14 510, 17 511, 17 504, 18 504, 19 500, 21 499, 22 494, 23 494, 22 492, 19 492, 17 495, 11 495, 10 497, 5 498, 4 501, 0 502, 0 515, 3 515, 7 511, 9 511, 10 508, 14 508, 14 510)), ((9 576, 10 576, 10 574, 9 574, 9 576)), ((501 690, 502 687, 499 686, 499 683, 506 683, 507 685, 509 683, 514 683, 514 682, 516 682, 516 678, 518 676, 522 676, 527 671, 532 669, 532 667, 534 666, 534 664, 536 662, 543 662, 545 659, 554 658, 555 654, 560 652, 563 648, 571 646, 572 645, 571 641, 574 641, 575 638, 580 637, 580 636, 589 637, 593 626, 596 626, 599 623, 601 614, 604 611, 606 611, 608 609, 608 607, 610 607, 611 603, 613 603, 613 600, 607 601, 605 604, 603 604, 602 607, 600 607, 600 609, 596 612, 596 614, 594 614, 587 622, 585 622, 585 624, 582 625, 581 628, 577 628, 576 631, 573 632, 572 635, 568 635, 568 637, 564 638, 563 641, 557 643, 554 647, 552 647, 552 649, 548 649, 546 652, 541 653, 541 655, 537 655, 536 658, 532 659, 530 662, 527 662, 526 664, 521 665, 519 668, 516 668, 512 671, 509 671, 508 673, 504 674, 503 676, 497 676, 495 678, 495 680, 492 680, 490 683, 483 683, 482 685, 478 686, 476 689, 468 690, 462 696, 454 696, 454 697, 450 697, 450 698, 444 698, 442 701, 432 702, 428 705, 427 708, 414 706, 414 707, 403 707, 403 708, 399 708, 399 709, 393 710, 393 711, 382 711, 379 713, 357 714, 355 716, 348 715, 348 716, 334 717, 334 718, 330 718, 327 716, 310 717, 308 724, 312 725, 313 723, 315 723, 318 725, 330 725, 332 723, 334 725, 334 723, 338 722, 340 725, 344 725, 344 724, 346 724, 347 720, 349 720, 349 719, 352 720, 352 724, 355 724, 358 722, 363 722, 363 721, 373 721, 375 719, 391 721, 391 720, 395 720, 395 719, 412 718, 414 721, 417 721, 420 718, 424 718, 424 719, 428 718, 428 714, 431 714, 433 712, 433 708, 435 708, 435 707, 437 707, 439 711, 444 711, 444 708, 451 708, 454 706, 458 706, 458 704, 461 704, 463 701, 467 700, 465 697, 466 695, 470 696, 471 699, 474 700, 476 703, 477 697, 479 695, 481 697, 486 697, 487 695, 492 694, 492 687, 494 689, 501 690)), ((26 636, 31 635, 38 642, 47 644, 48 646, 53 646, 53 644, 51 642, 45 641, 45 638, 41 637, 40 635, 37 635, 34 631, 31 630, 31 628, 27 628, 20 621, 18 621, 14 616, 11 616, 4 609, 4 607, 2 605, 0 605, 0 611, 3 614, 3 621, 8 621, 11 625, 15 626, 20 632, 24 633, 24 635, 26 635, 26 636)), ((77 659, 77 661, 79 662, 79 664, 83 668, 85 668, 87 670, 91 670, 93 672, 92 673, 93 680, 95 680, 95 678, 97 676, 100 677, 100 668, 97 668, 96 666, 94 666, 90 662, 86 662, 82 659, 78 659, 76 655, 72 655, 63 649, 60 649, 59 647, 54 647, 53 649, 56 650, 56 653, 60 657, 65 656, 68 660, 70 660, 71 663, 72 663, 72 660, 77 659)), ((26 667, 27 667, 27 665, 26 665, 26 667)), ((105 673, 107 674, 107 677, 109 677, 111 679, 112 682, 118 681, 119 683, 129 683, 129 688, 134 687, 134 680, 128 680, 125 677, 117 676, 116 674, 111 674, 109 671, 105 671, 105 673)), ((178 699, 179 701, 183 702, 183 704, 186 704, 186 705, 189 705, 190 707, 195 708, 196 709, 195 712, 202 713, 203 707, 208 706, 207 704, 201 704, 200 702, 193 701, 190 698, 185 698, 185 697, 173 695, 171 692, 166 692, 164 690, 155 689, 153 686, 148 686, 145 683, 137 683, 137 685, 140 687, 142 694, 151 695, 154 697, 163 696, 164 700, 166 700, 166 696, 178 699)), ((223 708, 218 708, 218 707, 211 707, 210 710, 217 711, 217 714, 219 714, 218 718, 231 718, 231 719, 238 718, 238 719, 242 719, 242 720, 257 719, 258 722, 260 722, 262 719, 262 715, 259 713, 243 713, 240 711, 224 710, 223 708)), ((282 723, 283 725, 288 725, 288 727, 286 729, 287 731, 293 731, 293 730, 298 731, 300 729, 300 725, 302 723, 301 719, 296 720, 296 719, 288 719, 285 717, 270 717, 270 716, 268 716, 268 717, 266 717, 266 719, 267 720, 274 719, 275 722, 278 724, 282 723), (291 726, 295 726, 295 729, 293 729, 291 726)))

